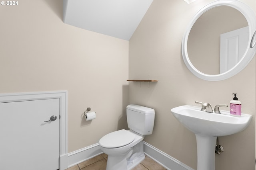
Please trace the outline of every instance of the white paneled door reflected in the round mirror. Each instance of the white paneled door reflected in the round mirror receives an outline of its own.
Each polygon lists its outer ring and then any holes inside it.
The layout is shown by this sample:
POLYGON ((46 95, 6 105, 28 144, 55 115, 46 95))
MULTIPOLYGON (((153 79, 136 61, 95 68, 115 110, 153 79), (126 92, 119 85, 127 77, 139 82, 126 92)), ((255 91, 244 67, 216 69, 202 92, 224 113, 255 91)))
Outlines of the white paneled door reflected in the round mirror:
POLYGON ((249 27, 220 35, 220 73, 233 68, 243 57, 249 41, 249 27))

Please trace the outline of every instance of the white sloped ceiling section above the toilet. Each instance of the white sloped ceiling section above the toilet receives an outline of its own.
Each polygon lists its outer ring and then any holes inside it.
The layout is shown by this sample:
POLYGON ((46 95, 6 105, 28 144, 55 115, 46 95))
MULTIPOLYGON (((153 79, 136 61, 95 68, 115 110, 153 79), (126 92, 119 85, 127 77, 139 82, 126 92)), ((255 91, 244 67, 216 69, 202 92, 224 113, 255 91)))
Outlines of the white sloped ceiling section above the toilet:
POLYGON ((153 0, 63 0, 64 23, 129 40, 153 0))

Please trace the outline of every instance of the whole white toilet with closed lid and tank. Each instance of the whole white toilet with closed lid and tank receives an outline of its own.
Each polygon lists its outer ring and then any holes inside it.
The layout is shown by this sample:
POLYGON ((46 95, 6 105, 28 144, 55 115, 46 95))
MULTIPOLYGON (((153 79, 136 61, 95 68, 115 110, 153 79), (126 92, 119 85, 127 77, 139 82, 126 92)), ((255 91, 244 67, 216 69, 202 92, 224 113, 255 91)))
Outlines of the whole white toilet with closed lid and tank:
POLYGON ((152 134, 155 110, 130 104, 126 115, 129 130, 108 133, 99 141, 100 149, 108 154, 106 170, 131 170, 145 158, 142 140, 152 134))

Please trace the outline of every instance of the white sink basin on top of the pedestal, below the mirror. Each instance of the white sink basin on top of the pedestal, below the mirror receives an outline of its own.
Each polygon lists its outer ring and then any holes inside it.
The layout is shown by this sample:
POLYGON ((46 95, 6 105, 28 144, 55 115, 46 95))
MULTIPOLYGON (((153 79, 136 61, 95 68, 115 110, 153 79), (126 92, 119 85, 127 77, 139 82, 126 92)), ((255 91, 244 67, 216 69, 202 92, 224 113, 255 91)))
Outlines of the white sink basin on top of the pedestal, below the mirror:
POLYGON ((171 109, 172 114, 186 128, 202 136, 226 136, 243 131, 248 127, 252 115, 243 114, 241 117, 231 116, 229 111, 221 114, 208 113, 196 106, 179 106, 171 109))

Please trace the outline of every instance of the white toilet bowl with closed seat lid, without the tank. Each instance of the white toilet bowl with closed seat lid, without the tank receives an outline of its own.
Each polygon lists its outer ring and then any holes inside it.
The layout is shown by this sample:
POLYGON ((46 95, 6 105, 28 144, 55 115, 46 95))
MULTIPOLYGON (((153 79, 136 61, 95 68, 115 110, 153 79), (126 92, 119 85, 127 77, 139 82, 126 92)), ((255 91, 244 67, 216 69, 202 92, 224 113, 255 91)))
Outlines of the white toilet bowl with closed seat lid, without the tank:
POLYGON ((130 170, 144 160, 143 139, 144 136, 124 129, 102 137, 100 149, 108 155, 106 170, 130 170), (124 139, 128 139, 127 142, 124 139))

